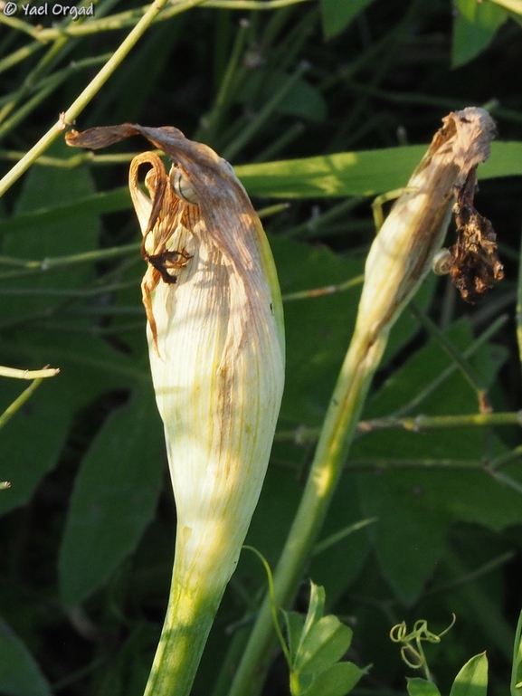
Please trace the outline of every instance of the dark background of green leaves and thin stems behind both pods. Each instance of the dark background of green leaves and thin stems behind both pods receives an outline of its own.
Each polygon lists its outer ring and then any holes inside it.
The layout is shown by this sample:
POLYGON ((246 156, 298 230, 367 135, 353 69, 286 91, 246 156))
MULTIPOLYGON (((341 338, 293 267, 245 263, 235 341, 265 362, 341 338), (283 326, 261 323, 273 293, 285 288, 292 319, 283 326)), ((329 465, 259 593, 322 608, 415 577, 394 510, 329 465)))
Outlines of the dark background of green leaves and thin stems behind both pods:
MULTIPOLYGON (((426 618, 439 633, 452 612, 451 632, 427 649, 441 692, 486 649, 490 693, 508 689, 522 580, 517 3, 207 0, 183 13, 188 3, 167 5, 77 120, 79 129, 176 125, 238 166, 264 211, 288 370, 248 543, 272 566, 353 329, 375 234, 372 197, 407 181, 450 110, 486 105, 499 138, 513 141, 498 143, 479 169, 477 196, 507 278, 470 306, 433 277, 404 312, 323 539, 351 533, 310 560, 328 612, 354 628, 349 658, 373 663, 360 696, 403 693, 413 675, 388 637, 394 624, 426 618), (327 157, 334 153, 348 154, 327 157), (302 157, 314 159, 264 164, 302 157), (485 390, 491 416, 479 415, 485 390), (419 415, 430 416, 421 429, 419 415)), ((75 22, 0 10, 5 173, 143 14, 134 2, 93 8, 75 22)), ((0 693, 138 696, 163 622, 176 511, 126 187, 128 161, 145 148, 136 140, 92 156, 56 139, 0 201, 0 364, 61 368, 0 433, 0 480, 11 482, 0 491, 0 693)), ((0 412, 23 388, 2 380, 0 412)), ((195 694, 227 693, 265 586, 259 560, 243 554, 195 694)), ((307 601, 304 579, 296 608, 307 601)), ((288 693, 280 658, 265 692, 288 693)))

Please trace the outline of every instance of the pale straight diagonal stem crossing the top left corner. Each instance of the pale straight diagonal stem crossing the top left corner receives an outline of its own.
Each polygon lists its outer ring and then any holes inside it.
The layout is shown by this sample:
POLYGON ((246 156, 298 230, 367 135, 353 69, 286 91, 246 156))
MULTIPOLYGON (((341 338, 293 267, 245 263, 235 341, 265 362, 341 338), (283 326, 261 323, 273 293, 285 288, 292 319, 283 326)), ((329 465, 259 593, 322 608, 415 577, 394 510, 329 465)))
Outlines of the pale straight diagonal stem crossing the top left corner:
MULTIPOLYGON (((183 5, 184 9, 188 9, 194 5, 200 5, 201 0, 190 0, 183 5)), ((119 48, 113 53, 109 61, 101 68, 100 72, 94 77, 92 81, 87 85, 87 87, 81 92, 80 96, 74 100, 65 113, 61 115, 61 118, 49 129, 45 135, 38 140, 38 142, 33 145, 33 148, 22 157, 22 159, 14 165, 14 167, 0 180, 0 196, 5 194, 5 191, 10 186, 13 186, 14 182, 17 181, 24 172, 31 167, 34 160, 40 157, 40 155, 45 152, 51 143, 58 138, 62 131, 67 127, 68 123, 72 123, 76 119, 81 111, 89 104, 90 100, 100 91, 101 87, 109 80, 109 77, 113 72, 119 67, 119 64, 126 58, 128 52, 138 43, 141 36, 147 31, 148 27, 157 14, 161 12, 163 7, 166 5, 166 0, 156 0, 153 5, 147 9, 147 13, 139 20, 138 24, 132 29, 124 41, 119 45, 119 48)))

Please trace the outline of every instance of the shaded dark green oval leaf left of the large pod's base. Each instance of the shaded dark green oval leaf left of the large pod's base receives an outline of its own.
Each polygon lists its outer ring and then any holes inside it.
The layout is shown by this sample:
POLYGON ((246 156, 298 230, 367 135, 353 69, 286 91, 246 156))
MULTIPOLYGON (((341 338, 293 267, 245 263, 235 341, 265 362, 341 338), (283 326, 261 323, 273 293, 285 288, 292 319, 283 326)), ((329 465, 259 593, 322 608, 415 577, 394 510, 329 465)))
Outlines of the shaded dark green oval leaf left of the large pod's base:
POLYGON ((156 508, 164 452, 149 392, 109 415, 72 494, 59 558, 64 605, 89 596, 136 548, 156 508))

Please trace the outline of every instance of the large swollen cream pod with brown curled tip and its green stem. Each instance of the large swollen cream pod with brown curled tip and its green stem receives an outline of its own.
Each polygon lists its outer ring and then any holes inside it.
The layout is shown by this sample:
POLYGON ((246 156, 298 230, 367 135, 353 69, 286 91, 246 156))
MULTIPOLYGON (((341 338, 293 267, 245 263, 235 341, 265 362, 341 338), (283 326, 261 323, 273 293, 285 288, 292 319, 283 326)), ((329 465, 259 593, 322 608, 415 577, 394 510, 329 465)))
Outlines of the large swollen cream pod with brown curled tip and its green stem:
POLYGON ((150 366, 176 498, 176 558, 146 693, 185 696, 240 554, 280 408, 280 289, 258 216, 233 168, 174 128, 69 135, 99 148, 140 133, 164 150, 135 157, 129 187, 148 268, 150 366), (147 166, 147 193, 138 171, 147 166))

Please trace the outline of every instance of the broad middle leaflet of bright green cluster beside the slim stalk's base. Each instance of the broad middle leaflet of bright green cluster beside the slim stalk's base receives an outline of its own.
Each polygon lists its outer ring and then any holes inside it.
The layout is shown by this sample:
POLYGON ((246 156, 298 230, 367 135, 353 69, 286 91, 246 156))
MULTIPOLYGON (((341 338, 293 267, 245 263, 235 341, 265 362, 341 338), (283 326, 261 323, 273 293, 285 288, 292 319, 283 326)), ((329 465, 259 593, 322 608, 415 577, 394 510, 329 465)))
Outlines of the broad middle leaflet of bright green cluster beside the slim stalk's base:
POLYGON ((324 672, 346 653, 352 642, 352 635, 352 629, 341 624, 337 616, 323 616, 312 625, 299 645, 295 660, 296 672, 324 672))

